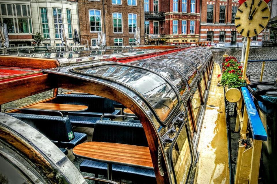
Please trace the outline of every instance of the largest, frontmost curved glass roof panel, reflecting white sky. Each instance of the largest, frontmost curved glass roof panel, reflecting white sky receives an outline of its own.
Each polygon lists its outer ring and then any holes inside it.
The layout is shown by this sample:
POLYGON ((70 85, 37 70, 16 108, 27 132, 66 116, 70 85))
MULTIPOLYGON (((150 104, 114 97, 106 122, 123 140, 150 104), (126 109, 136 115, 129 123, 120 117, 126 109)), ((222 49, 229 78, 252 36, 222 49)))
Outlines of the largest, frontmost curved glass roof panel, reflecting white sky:
POLYGON ((128 86, 141 94, 164 122, 178 104, 176 93, 159 75, 150 71, 121 65, 75 68, 85 75, 106 78, 128 86))

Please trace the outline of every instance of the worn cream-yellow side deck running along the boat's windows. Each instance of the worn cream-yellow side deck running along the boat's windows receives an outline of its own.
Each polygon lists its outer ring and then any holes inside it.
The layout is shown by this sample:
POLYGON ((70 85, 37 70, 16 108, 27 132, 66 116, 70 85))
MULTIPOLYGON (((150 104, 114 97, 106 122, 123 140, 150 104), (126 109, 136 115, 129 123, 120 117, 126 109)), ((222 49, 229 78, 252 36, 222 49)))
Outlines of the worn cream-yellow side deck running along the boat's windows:
POLYGON ((197 183, 230 183, 224 89, 217 86, 220 66, 215 64, 198 143, 197 183))

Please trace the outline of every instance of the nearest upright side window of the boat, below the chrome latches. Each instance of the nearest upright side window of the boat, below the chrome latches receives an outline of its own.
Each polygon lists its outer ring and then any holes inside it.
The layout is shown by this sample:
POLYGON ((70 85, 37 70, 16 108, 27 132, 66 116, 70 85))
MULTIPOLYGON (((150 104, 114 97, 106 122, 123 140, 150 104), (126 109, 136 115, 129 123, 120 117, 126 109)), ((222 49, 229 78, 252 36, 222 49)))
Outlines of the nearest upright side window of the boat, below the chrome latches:
POLYGON ((189 146, 187 125, 183 126, 178 139, 172 149, 172 163, 174 166, 176 183, 186 183, 192 166, 192 151, 189 146))

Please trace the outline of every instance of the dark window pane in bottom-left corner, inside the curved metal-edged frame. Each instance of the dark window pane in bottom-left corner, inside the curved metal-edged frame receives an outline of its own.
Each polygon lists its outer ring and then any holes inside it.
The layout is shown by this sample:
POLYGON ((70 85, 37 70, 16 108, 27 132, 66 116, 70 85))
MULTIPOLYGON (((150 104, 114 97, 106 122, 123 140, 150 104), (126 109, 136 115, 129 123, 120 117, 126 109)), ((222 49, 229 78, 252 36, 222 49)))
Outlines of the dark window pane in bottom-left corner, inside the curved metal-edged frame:
POLYGON ((0 166, 0 183, 31 183, 18 169, 2 156, 0 156, 0 166))

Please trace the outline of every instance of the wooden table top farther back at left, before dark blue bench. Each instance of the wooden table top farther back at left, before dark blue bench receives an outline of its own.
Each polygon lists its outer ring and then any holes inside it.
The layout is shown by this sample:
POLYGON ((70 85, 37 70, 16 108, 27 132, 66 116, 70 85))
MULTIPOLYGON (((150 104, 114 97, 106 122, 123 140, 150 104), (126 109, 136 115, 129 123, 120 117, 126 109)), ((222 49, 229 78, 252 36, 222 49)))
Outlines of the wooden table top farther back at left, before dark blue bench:
POLYGON ((54 111, 85 111, 88 106, 85 105, 72 105, 72 104, 59 104, 59 103, 36 103, 25 107, 26 109, 43 109, 43 110, 54 110, 54 111))

